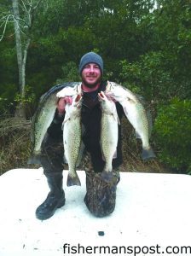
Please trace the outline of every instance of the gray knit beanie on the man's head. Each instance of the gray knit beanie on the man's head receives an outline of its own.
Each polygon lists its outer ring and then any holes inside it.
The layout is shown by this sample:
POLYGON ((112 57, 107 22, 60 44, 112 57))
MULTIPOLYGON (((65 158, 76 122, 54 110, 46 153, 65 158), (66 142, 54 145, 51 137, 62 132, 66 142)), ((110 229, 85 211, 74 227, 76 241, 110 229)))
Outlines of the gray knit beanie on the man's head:
POLYGON ((103 74, 103 60, 100 55, 97 55, 95 52, 90 51, 87 54, 83 55, 79 62, 79 73, 81 75, 85 65, 89 63, 96 63, 100 69, 101 74, 103 74))

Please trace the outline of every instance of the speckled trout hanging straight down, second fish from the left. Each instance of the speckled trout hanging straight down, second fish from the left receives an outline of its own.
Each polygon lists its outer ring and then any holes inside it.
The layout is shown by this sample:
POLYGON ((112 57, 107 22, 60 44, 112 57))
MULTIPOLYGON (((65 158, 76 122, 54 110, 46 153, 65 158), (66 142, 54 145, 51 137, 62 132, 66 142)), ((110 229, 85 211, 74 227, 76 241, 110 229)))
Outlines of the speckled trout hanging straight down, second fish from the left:
POLYGON ((69 169, 67 186, 81 185, 76 172, 82 143, 81 105, 82 97, 77 95, 72 96, 72 104, 67 104, 65 108, 66 114, 62 128, 64 154, 69 169))

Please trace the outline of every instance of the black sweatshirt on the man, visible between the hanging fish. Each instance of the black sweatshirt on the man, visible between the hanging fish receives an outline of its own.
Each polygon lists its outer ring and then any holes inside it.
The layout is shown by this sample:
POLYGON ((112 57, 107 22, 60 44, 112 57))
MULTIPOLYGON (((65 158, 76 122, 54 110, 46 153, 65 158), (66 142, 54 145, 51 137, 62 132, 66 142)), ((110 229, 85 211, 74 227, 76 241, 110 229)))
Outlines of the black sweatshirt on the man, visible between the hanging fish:
MULTIPOLYGON (((101 154, 101 106, 98 101, 98 92, 106 90, 106 83, 102 82, 98 90, 93 92, 83 92, 82 103, 82 124, 84 125, 83 142, 85 149, 90 152, 92 164, 95 172, 102 172, 105 166, 105 161, 102 160, 101 154)), ((119 120, 122 118, 124 110, 116 102, 116 108, 119 115, 119 120)), ((55 119, 49 126, 49 136, 57 139, 62 139, 61 123, 64 119, 59 117, 57 111, 55 113, 55 119)), ((119 125, 119 141, 117 147, 117 158, 113 159, 113 168, 117 168, 122 164, 122 149, 121 149, 121 127, 119 125)))

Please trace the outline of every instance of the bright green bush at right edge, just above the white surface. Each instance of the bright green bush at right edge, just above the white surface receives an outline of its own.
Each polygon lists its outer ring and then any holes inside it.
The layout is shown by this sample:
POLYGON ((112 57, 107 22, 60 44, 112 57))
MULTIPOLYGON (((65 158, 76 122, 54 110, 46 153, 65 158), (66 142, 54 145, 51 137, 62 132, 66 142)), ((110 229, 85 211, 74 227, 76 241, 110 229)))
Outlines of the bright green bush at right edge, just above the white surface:
POLYGON ((173 98, 160 106, 153 126, 159 159, 178 172, 191 174, 191 101, 173 98))

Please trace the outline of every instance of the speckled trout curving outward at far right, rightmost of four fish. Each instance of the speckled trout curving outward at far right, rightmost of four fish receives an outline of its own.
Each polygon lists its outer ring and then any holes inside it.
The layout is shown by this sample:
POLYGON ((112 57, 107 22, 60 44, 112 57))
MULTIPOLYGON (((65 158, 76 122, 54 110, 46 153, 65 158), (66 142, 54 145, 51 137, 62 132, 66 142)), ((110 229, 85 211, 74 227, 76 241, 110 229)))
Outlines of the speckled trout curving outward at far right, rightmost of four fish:
POLYGON ((155 157, 153 148, 149 144, 148 115, 138 97, 130 90, 119 84, 107 82, 106 95, 119 102, 124 108, 124 114, 136 130, 136 137, 142 139, 142 160, 155 157))

